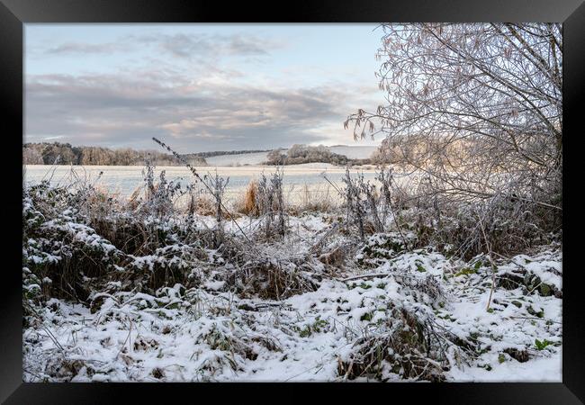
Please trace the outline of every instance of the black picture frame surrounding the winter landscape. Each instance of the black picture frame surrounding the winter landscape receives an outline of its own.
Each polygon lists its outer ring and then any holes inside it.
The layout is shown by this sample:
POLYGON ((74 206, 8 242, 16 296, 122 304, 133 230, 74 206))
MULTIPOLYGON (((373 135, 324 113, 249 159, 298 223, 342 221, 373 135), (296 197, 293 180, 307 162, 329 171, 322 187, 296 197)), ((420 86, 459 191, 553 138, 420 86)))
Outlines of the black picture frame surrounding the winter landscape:
MULTIPOLYGON (((411 22, 411 21, 449 21, 449 22, 559 22, 563 23, 564 53, 563 83, 563 124, 571 135, 564 137, 563 159, 563 233, 575 228, 577 210, 567 212, 567 203, 575 208, 568 187, 566 175, 572 172, 572 161, 579 161, 580 101, 584 94, 585 83, 582 73, 585 66, 585 4, 581 0, 563 1, 526 1, 492 0, 488 1, 425 1, 409 0, 405 3, 391 3, 383 0, 362 0, 359 4, 340 4, 335 0, 321 0, 283 4, 249 4, 248 2, 210 2, 202 0, 0 0, 0 89, 2 97, 4 176, 10 188, 22 187, 18 166, 22 164, 22 143, 14 133, 23 134, 23 24, 25 23, 365 23, 365 22, 411 22), (12 125, 8 125, 12 124, 12 125), (7 128, 11 128, 8 130, 7 128), (569 139, 567 144, 566 139, 569 139), (566 155, 566 154, 569 155, 566 155), (568 157, 568 158, 567 158, 568 157), (574 157, 574 160, 573 160, 574 157), (21 163, 18 160, 21 160, 21 163)), ((22 140, 22 139, 20 139, 22 140)), ((189 391, 191 401, 202 399, 202 392, 214 390, 235 393, 238 396, 257 399, 258 388, 255 384, 234 383, 233 390, 224 390, 222 384, 148 384, 148 383, 76 383, 49 384, 23 383, 22 370, 22 280, 19 265, 19 251, 22 250, 21 223, 18 211, 22 211, 22 200, 13 190, 6 191, 1 199, 4 210, 0 215, 4 225, 3 258, 4 289, 0 294, 2 314, 0 327, 0 401, 9 404, 30 403, 109 403, 121 399, 121 394, 132 392, 146 398, 163 398, 160 401, 175 399, 177 390, 189 391), (21 230, 19 230, 21 229, 21 230), (168 395, 171 394, 171 397, 168 395), (166 398, 166 400, 165 400, 166 398)), ((578 240, 565 238, 563 243, 563 262, 572 263, 578 257, 578 240), (568 257, 566 254, 568 253, 568 257)), ((568 265, 569 266, 569 265, 568 265)), ((584 316, 577 277, 582 266, 575 266, 564 273, 563 285, 563 383, 446 383, 446 384, 370 384, 367 396, 359 394, 365 401, 371 401, 372 393, 383 394, 386 400, 396 401, 399 394, 407 398, 419 399, 428 396, 435 403, 513 403, 513 404, 572 404, 585 401, 585 378, 583 367, 584 316), (573 271, 574 270, 574 271, 573 271)), ((277 384, 270 384, 277 385, 277 384)), ((305 384, 302 384, 305 385, 305 384)), ((338 393, 347 398, 349 391, 364 388, 361 384, 311 384, 326 391, 338 393)), ((290 386, 289 386, 290 387, 290 386)), ((287 397, 304 401, 307 398, 305 387, 287 388, 293 395, 287 397)), ((356 393, 356 392, 354 392, 356 393)), ((270 401, 271 395, 266 394, 270 401)), ((279 401, 282 397, 272 397, 279 401)), ((287 399, 288 399, 287 398, 287 399)))

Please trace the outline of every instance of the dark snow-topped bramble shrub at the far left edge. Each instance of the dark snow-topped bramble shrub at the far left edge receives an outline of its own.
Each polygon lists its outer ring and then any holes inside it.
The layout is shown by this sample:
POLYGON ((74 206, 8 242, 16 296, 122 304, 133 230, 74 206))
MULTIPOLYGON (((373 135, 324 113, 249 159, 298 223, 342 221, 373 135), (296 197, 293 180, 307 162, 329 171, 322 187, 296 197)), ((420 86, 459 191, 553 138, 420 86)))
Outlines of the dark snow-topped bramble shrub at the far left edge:
POLYGON ((103 276, 123 257, 112 243, 86 226, 71 195, 48 183, 24 191, 23 267, 41 281, 45 298, 85 300, 89 281, 103 276))

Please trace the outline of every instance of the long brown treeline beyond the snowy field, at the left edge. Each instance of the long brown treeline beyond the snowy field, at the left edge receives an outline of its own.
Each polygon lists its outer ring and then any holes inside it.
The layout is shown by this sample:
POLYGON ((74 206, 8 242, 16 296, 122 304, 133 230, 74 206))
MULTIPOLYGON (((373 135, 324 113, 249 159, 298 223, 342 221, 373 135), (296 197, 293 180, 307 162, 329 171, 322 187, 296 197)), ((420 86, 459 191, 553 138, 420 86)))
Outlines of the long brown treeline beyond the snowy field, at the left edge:
MULTIPOLYGON (((204 157, 183 156, 193 166, 207 166, 204 157)), ((25 143, 24 165, 141 166, 148 159, 156 166, 182 166, 176 157, 156 150, 131 148, 74 147, 68 143, 25 143)))

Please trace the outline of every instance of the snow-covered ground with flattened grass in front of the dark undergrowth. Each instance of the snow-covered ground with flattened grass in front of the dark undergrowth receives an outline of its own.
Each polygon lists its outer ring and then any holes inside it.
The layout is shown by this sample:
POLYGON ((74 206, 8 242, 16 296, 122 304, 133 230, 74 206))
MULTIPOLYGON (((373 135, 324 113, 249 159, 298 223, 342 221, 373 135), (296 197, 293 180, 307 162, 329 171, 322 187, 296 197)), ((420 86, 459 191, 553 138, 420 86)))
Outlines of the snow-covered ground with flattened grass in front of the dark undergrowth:
MULTIPOLYGON (((117 247, 94 229, 67 221, 67 212, 64 218, 42 226, 115 254, 117 247)), ((207 249, 201 258, 207 265, 191 270, 196 282, 189 287, 137 292, 122 274, 92 292, 91 304, 50 298, 31 308, 35 316, 23 329, 23 379, 561 381, 559 246, 502 258, 494 274, 484 257, 464 263, 431 247, 402 250, 395 234, 352 246, 331 223, 325 213, 290 217, 293 236, 255 247, 306 281, 295 291, 286 284, 277 297, 263 293, 270 279, 252 287, 234 281, 236 270, 207 249), (303 264, 319 243, 317 259, 303 264)), ((29 263, 60 259, 35 250, 39 243, 28 240, 29 263)), ((127 266, 152 271, 159 257, 183 260, 181 248, 132 257, 127 266)), ((50 283, 29 280, 24 289, 50 283)))

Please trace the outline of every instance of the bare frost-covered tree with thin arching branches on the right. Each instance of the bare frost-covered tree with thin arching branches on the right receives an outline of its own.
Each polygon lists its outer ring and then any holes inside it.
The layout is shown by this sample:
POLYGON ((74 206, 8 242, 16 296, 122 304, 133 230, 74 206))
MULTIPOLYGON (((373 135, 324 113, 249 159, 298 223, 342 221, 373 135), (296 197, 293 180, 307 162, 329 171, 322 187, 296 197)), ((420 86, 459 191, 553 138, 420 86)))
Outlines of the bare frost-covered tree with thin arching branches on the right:
POLYGON ((563 31, 557 23, 383 24, 375 112, 345 122, 383 134, 388 161, 428 193, 514 194, 561 211, 563 31))

